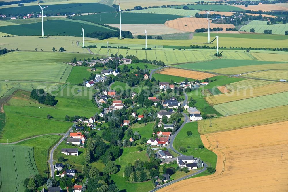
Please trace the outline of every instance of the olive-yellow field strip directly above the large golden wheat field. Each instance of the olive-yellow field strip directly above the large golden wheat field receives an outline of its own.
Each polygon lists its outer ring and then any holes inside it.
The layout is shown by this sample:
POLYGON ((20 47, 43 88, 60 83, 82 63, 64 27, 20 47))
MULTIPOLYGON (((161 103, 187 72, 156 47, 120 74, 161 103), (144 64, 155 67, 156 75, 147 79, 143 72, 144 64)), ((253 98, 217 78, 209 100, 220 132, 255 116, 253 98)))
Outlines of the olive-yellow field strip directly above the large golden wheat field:
POLYGON ((209 127, 210 119, 205 119, 198 121, 198 131, 200 134, 207 134, 288 121, 288 116, 285 115, 287 112, 288 106, 285 105, 248 113, 214 118, 211 119, 211 127, 209 127), (271 118, 267 118, 267 114, 273 114, 273 116, 271 116, 271 118))

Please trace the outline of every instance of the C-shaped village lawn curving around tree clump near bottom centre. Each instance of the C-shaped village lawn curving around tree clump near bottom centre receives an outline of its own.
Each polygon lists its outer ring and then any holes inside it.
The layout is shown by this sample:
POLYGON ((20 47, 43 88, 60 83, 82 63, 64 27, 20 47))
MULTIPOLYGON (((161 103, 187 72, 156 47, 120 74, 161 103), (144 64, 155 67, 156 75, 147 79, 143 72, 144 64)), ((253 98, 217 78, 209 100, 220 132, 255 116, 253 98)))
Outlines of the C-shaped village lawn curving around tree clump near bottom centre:
POLYGON ((141 161, 148 160, 145 150, 143 150, 142 152, 138 152, 136 147, 125 147, 123 148, 122 155, 115 160, 115 163, 120 167, 120 170, 116 174, 111 174, 110 177, 111 180, 116 183, 120 191, 126 190, 129 192, 147 192, 154 189, 154 186, 150 180, 140 183, 130 183, 126 182, 125 178, 123 177, 124 168, 127 163, 132 163, 132 165, 134 165, 134 162, 137 159, 140 159, 141 161))

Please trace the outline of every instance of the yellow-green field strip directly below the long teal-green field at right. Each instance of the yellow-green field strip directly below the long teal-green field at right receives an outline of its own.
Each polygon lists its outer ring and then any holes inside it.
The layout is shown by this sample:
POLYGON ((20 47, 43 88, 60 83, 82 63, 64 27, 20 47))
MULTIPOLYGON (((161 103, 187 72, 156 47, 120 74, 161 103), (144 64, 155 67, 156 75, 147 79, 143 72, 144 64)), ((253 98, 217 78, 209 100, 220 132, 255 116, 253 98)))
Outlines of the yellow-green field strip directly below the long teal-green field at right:
POLYGON ((270 70, 270 69, 288 69, 288 63, 228 67, 228 68, 222 68, 222 69, 214 69, 210 71, 215 72, 215 73, 223 73, 223 74, 242 74, 242 73, 247 73, 251 71, 261 71, 261 70, 270 70))

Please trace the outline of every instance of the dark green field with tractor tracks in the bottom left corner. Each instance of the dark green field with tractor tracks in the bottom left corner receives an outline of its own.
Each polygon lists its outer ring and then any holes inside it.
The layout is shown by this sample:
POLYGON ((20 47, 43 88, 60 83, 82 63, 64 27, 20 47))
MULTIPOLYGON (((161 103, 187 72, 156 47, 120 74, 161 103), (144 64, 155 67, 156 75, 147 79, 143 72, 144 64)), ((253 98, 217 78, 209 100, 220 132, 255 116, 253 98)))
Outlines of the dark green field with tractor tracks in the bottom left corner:
POLYGON ((33 148, 0 144, 0 153, 0 191, 24 191, 24 179, 38 174, 33 148))

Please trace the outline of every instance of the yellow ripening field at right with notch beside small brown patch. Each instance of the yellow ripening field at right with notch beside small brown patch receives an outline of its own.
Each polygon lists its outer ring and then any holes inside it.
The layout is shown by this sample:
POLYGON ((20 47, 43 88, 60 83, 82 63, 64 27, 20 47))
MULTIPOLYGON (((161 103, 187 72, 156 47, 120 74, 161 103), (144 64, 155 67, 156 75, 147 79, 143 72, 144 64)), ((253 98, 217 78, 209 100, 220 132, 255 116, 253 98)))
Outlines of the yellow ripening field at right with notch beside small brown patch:
POLYGON ((220 103, 228 103, 231 101, 238 101, 252 97, 281 93, 288 90, 288 84, 287 83, 283 84, 281 82, 249 79, 228 84, 224 86, 222 90, 223 92, 225 90, 228 90, 229 93, 205 97, 206 101, 210 105, 216 105, 220 103))

